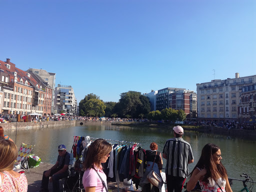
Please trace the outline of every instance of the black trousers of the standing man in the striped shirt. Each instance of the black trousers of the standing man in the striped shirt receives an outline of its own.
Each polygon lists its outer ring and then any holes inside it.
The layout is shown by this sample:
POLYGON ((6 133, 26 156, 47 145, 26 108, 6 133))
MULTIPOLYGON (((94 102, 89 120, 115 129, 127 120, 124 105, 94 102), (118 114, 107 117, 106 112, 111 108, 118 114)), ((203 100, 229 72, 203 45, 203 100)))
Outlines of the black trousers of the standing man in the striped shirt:
POLYGON ((171 176, 166 174, 168 192, 172 192, 173 190, 174 192, 181 192, 185 180, 186 178, 183 178, 181 176, 171 176))

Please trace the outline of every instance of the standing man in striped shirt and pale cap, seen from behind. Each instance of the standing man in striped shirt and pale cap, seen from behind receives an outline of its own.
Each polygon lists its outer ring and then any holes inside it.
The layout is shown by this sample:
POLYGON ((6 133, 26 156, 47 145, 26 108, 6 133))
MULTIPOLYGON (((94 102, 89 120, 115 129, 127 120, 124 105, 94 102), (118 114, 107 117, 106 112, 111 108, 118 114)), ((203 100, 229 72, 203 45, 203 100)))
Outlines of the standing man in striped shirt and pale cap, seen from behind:
POLYGON ((191 146, 183 138, 183 128, 173 127, 174 137, 168 139, 163 147, 162 157, 166 158, 166 183, 168 192, 181 192, 186 176, 188 175, 189 163, 192 163, 193 154, 191 146))

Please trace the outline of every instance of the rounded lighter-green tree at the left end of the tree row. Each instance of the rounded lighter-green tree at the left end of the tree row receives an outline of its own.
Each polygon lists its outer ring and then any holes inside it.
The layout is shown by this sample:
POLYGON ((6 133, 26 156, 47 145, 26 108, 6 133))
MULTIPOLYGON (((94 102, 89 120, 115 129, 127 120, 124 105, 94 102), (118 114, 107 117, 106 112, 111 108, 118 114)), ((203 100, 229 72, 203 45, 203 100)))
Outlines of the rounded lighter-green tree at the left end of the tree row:
POLYGON ((85 95, 79 102, 79 114, 81 116, 102 116, 105 114, 105 104, 99 96, 90 93, 85 95))

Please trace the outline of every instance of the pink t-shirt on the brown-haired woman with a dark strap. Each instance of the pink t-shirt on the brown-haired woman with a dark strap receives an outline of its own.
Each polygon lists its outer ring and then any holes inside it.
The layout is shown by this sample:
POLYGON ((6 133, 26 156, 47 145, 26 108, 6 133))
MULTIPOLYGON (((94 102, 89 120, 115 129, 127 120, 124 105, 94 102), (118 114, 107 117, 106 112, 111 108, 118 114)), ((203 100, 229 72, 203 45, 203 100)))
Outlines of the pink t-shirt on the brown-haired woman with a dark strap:
MULTIPOLYGON (((95 169, 106 184, 106 175, 103 172, 103 170, 97 169, 97 168, 95 169)), ((87 168, 84 171, 82 176, 83 187, 85 188, 86 186, 95 186, 95 192, 106 192, 105 187, 102 181, 100 180, 98 174, 96 173, 96 171, 93 168, 90 168, 90 169, 87 168)))

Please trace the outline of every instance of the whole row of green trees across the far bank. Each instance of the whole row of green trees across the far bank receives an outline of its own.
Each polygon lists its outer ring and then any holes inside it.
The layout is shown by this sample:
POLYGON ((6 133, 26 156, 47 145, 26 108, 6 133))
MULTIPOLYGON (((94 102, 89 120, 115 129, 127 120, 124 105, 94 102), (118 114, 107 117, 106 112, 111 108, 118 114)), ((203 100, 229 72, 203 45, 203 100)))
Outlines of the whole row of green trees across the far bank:
POLYGON ((151 120, 184 120, 183 110, 165 108, 161 111, 150 112, 148 97, 137 91, 128 91, 120 94, 118 102, 103 102, 99 96, 90 93, 79 102, 80 116, 106 116, 121 118, 148 118, 151 120))

